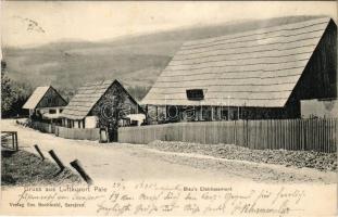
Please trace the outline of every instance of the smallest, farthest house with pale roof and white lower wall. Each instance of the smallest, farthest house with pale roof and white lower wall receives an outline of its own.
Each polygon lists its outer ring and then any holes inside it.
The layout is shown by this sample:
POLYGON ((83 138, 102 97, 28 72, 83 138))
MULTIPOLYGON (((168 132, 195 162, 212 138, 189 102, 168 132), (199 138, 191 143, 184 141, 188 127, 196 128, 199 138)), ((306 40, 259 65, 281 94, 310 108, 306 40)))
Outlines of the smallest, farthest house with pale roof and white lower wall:
POLYGON ((67 102, 52 86, 46 86, 37 87, 23 108, 29 111, 30 120, 53 123, 59 120, 66 104, 67 102))

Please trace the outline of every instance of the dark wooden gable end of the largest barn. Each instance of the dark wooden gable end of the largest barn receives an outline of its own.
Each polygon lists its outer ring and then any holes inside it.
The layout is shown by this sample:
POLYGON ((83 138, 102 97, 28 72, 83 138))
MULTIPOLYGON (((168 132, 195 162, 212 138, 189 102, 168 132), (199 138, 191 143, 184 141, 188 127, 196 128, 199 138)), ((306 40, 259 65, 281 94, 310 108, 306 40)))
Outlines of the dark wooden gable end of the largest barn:
POLYGON ((330 20, 297 82, 286 107, 293 117, 301 115, 301 100, 337 98, 337 26, 330 20))

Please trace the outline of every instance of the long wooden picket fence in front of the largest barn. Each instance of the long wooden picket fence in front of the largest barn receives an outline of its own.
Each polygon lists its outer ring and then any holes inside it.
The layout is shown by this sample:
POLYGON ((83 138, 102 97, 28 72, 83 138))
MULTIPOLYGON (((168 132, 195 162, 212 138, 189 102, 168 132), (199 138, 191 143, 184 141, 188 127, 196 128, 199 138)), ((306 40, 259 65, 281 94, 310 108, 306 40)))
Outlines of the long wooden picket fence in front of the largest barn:
POLYGON ((120 128, 118 142, 146 144, 163 140, 335 152, 337 125, 337 118, 177 123, 120 128))

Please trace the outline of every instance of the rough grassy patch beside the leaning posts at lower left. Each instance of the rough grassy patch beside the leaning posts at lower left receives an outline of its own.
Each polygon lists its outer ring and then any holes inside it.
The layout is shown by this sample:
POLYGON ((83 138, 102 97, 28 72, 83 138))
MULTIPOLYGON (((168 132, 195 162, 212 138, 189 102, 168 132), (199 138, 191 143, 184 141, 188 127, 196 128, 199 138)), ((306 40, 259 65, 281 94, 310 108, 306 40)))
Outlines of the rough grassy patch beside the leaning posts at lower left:
POLYGON ((25 152, 1 151, 1 186, 35 186, 79 183, 80 177, 52 162, 41 161, 38 156, 25 152))

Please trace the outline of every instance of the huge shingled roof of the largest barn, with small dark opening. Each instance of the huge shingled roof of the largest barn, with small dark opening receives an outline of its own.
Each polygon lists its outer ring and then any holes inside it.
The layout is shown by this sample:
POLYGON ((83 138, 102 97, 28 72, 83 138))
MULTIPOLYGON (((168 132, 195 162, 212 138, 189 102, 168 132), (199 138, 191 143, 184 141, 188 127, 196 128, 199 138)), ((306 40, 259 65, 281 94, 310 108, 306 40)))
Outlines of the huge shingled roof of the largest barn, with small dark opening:
POLYGON ((142 104, 284 106, 329 21, 185 42, 142 104), (187 89, 203 89, 204 100, 189 101, 187 89))

